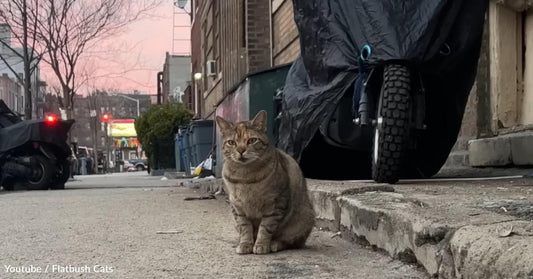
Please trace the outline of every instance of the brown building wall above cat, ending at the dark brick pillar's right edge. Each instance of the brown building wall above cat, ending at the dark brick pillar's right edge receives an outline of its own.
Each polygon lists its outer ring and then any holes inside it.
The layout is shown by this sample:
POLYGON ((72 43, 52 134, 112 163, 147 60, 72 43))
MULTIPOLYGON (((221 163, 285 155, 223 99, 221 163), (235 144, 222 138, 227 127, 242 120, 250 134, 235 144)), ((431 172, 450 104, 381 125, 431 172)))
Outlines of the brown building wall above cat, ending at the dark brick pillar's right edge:
POLYGON ((212 118, 215 106, 247 74, 271 66, 269 1, 196 1, 192 61, 193 73, 202 73, 202 78, 192 91, 202 98, 201 118, 212 118), (207 75, 208 60, 216 61, 213 76, 207 75))

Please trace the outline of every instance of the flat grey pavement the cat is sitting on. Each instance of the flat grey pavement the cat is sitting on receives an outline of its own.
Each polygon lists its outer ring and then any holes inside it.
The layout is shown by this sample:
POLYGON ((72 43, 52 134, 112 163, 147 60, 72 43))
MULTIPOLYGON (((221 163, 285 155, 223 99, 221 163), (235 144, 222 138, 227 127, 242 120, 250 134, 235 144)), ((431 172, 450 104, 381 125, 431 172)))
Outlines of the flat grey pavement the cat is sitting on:
POLYGON ((0 278, 426 278, 319 230, 305 249, 237 255, 226 198, 184 201, 198 193, 179 182, 142 172, 0 192, 0 278))

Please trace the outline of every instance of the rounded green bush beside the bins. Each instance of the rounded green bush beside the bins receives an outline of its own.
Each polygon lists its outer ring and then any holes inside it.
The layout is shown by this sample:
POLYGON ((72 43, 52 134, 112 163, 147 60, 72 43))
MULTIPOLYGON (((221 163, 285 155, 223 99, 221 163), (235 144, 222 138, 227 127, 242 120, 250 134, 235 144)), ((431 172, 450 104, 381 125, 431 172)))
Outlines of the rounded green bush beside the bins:
POLYGON ((191 122, 194 114, 183 104, 163 104, 152 106, 135 120, 137 138, 146 152, 148 160, 152 158, 158 142, 173 141, 179 126, 191 122))

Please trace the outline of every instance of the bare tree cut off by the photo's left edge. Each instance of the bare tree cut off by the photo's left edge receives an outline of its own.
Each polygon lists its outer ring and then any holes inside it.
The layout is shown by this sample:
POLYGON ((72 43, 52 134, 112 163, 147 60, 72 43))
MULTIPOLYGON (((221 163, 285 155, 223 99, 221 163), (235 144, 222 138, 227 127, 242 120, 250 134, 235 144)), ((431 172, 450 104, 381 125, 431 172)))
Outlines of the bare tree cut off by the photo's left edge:
MULTIPOLYGON (((24 116, 32 118, 32 88, 31 77, 39 67, 42 49, 37 41, 37 15, 39 14, 38 0, 0 0, 0 24, 9 30, 9 38, 0 38, 0 45, 6 49, 0 52, 0 61, 13 73, 17 81, 24 87, 24 116), (10 42, 15 39, 15 47, 10 42), (16 58, 16 59, 12 59, 16 58), (16 60, 23 63, 23 75, 15 70, 16 60)), ((6 33, 7 34, 7 33, 6 33)), ((38 86, 37 84, 34 84, 38 86)))

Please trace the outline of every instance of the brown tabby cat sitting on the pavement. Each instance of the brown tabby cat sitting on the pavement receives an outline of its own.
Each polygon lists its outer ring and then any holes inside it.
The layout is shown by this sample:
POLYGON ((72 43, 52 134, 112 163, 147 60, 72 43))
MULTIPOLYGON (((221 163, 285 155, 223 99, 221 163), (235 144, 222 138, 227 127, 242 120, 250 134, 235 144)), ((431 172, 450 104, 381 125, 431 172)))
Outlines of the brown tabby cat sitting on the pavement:
POLYGON ((225 157, 222 177, 239 233, 238 254, 267 254, 304 246, 315 223, 296 161, 267 137, 267 115, 230 123, 216 118, 225 157))

